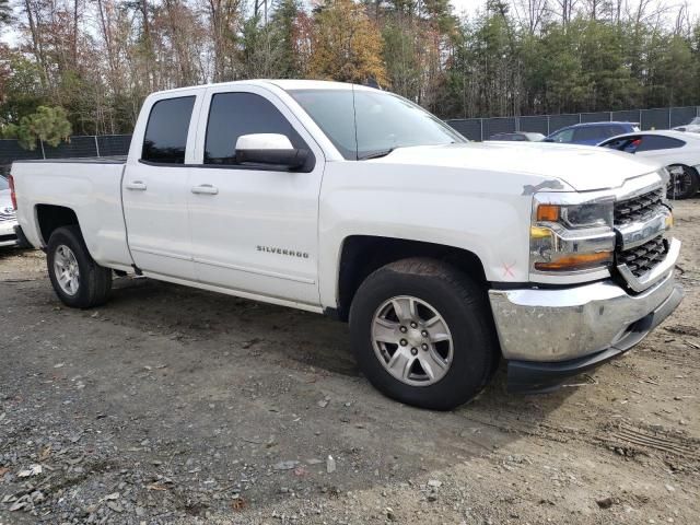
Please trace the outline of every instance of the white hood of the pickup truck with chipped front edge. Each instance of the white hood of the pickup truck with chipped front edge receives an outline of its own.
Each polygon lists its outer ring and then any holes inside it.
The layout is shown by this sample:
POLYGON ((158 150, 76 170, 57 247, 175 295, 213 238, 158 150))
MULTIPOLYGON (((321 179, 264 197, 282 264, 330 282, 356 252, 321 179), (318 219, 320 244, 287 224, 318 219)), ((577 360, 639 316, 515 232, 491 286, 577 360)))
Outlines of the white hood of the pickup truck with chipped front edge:
POLYGON ((468 142, 399 148, 369 162, 465 168, 559 179, 576 191, 617 188, 660 164, 631 153, 547 142, 468 142))

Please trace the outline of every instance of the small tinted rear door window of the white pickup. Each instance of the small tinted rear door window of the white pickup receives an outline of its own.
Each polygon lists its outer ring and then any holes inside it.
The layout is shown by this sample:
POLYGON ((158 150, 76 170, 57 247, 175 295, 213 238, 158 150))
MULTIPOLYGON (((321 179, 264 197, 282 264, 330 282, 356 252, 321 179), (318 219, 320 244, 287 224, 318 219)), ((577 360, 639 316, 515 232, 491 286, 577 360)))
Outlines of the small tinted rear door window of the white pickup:
POLYGON ((141 159, 162 164, 184 164, 194 96, 165 98, 151 108, 141 159))

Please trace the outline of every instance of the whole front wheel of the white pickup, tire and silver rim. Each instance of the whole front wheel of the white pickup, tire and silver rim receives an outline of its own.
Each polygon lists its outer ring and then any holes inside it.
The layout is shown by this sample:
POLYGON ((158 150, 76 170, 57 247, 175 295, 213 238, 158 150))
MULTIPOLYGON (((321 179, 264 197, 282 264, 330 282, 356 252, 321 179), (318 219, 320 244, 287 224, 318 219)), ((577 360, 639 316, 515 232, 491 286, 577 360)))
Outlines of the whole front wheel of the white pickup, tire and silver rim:
POLYGON ((358 289, 350 308, 352 350, 360 370, 386 396, 450 410, 472 399, 495 371, 500 347, 490 312, 483 289, 456 268, 428 258, 402 259, 380 268, 358 289), (398 315, 411 310, 410 298, 417 328, 406 320, 410 316, 398 315), (441 332, 451 339, 433 342, 444 339, 441 332))

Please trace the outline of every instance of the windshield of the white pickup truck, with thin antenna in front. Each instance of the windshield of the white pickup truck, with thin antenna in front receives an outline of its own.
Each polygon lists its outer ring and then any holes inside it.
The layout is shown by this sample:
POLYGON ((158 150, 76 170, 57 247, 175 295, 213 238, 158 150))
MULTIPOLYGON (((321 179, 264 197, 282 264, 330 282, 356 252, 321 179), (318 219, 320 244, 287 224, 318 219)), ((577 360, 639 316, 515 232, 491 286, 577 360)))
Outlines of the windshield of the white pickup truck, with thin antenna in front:
POLYGON ((378 90, 290 90, 347 160, 467 140, 420 106, 378 90))

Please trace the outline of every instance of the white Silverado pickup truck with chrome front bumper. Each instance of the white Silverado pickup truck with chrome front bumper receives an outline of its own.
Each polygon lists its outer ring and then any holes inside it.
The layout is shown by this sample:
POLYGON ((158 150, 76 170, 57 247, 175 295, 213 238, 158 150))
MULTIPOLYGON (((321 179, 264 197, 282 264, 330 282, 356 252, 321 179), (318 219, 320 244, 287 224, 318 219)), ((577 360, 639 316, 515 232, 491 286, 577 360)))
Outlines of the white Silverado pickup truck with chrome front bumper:
POLYGON ((150 95, 126 160, 16 162, 21 234, 60 300, 113 271, 349 320, 369 380, 450 409, 508 360, 536 392, 678 305, 663 168, 600 148, 468 142, 387 92, 247 81, 150 95))

